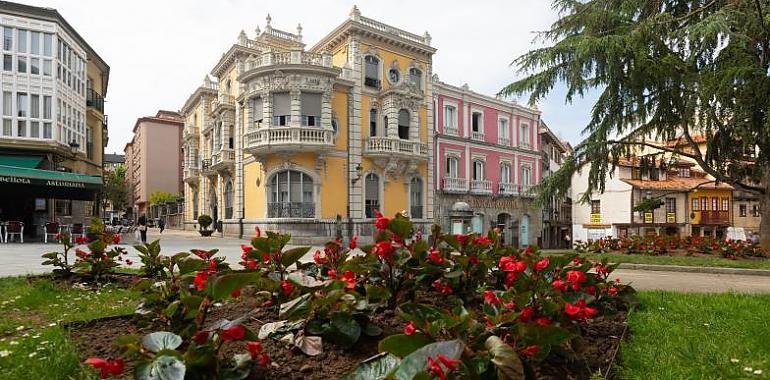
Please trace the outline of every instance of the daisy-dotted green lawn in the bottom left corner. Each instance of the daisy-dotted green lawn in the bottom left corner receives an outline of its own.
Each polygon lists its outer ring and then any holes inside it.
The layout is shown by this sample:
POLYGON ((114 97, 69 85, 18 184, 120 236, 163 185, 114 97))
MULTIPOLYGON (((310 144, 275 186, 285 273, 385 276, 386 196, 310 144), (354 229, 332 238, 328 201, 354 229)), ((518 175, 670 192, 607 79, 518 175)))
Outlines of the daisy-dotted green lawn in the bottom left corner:
POLYGON ((0 379, 91 379, 60 323, 130 314, 138 294, 64 289, 47 279, 0 278, 0 379))

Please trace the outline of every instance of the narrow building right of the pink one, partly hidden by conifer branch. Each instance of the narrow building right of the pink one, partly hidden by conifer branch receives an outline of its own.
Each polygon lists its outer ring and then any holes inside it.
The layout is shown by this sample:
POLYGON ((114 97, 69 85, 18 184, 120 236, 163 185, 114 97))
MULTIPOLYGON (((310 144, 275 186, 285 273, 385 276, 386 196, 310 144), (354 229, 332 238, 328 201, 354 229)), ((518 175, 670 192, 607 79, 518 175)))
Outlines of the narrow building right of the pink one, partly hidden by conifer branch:
MULTIPOLYGON (((557 137, 548 125, 540 120, 540 150, 543 154, 543 180, 558 171, 572 152, 568 142, 557 137)), ((572 238, 571 189, 561 199, 550 198, 543 205, 543 233, 541 248, 570 248, 572 238)))

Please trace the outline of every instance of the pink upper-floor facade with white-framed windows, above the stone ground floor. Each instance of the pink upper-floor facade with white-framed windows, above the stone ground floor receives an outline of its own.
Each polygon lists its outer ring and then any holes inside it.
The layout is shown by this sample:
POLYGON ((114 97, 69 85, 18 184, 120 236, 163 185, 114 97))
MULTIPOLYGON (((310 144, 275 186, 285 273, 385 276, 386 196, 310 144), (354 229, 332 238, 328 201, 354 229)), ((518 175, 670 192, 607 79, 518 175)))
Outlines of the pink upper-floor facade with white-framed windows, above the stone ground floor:
POLYGON ((444 84, 434 93, 437 190, 517 195, 540 182, 538 111, 444 84))

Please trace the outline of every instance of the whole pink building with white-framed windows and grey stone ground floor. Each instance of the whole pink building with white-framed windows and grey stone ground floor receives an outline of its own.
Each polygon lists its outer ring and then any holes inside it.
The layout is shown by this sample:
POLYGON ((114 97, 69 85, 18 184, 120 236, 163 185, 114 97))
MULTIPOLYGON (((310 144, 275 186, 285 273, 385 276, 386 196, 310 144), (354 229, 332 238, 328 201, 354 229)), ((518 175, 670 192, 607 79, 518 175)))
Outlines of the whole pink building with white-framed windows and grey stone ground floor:
POLYGON ((454 233, 499 227, 508 243, 537 244, 540 111, 437 78, 433 94, 436 221, 454 233))

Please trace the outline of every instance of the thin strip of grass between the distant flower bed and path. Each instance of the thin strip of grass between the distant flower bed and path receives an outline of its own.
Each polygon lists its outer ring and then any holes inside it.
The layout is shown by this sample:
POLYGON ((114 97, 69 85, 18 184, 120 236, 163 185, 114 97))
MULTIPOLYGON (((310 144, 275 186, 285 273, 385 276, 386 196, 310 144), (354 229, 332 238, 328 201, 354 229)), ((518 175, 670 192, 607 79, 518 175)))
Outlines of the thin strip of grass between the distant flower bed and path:
MULTIPOLYGON (((545 251, 547 255, 562 255, 572 251, 545 251)), ((658 264, 658 265, 683 265, 696 267, 723 267, 723 268, 747 268, 747 269, 770 269, 770 259, 765 260, 728 260, 714 255, 713 257, 688 257, 688 256, 647 256, 647 255, 627 255, 623 253, 583 253, 583 257, 593 260, 607 258, 612 263, 633 263, 633 264, 658 264)))

